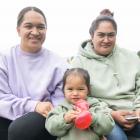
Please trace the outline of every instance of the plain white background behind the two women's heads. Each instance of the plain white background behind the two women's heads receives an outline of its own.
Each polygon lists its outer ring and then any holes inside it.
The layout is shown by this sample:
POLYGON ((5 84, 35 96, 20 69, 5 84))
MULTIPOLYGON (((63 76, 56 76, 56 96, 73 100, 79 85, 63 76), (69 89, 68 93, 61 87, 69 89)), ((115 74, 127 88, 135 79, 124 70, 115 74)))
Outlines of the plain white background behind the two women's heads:
POLYGON ((0 4, 0 52, 19 42, 16 20, 25 6, 36 6, 45 13, 48 31, 44 47, 61 56, 77 53, 80 43, 90 37, 91 22, 104 8, 114 12, 117 44, 140 50, 139 0, 4 0, 0 4))

